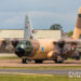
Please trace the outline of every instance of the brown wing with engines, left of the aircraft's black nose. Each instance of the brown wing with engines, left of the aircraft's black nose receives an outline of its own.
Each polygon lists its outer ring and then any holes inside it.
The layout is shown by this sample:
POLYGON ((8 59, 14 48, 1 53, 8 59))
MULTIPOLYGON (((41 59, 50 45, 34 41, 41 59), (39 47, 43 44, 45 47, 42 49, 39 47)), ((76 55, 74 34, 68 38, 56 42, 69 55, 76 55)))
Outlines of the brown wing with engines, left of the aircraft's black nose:
POLYGON ((14 53, 15 46, 23 39, 0 39, 0 53, 14 53))

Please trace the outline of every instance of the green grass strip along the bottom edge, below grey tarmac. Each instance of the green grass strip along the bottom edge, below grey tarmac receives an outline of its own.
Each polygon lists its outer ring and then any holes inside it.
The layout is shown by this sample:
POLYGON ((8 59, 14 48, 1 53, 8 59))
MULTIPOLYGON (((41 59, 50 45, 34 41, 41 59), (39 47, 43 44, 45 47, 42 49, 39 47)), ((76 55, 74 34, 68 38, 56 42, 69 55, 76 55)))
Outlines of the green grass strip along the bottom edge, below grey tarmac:
POLYGON ((81 81, 81 78, 68 76, 0 76, 0 81, 81 81))

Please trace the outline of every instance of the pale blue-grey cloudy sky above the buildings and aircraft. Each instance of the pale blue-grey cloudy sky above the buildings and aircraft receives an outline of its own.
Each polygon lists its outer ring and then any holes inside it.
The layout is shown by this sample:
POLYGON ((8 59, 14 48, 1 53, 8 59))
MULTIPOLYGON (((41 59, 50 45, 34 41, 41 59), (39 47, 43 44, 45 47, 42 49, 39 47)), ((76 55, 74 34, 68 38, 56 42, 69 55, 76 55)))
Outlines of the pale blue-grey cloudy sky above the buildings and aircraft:
POLYGON ((81 0, 0 0, 0 29, 24 29, 28 14, 33 29, 60 24, 73 30, 81 0))

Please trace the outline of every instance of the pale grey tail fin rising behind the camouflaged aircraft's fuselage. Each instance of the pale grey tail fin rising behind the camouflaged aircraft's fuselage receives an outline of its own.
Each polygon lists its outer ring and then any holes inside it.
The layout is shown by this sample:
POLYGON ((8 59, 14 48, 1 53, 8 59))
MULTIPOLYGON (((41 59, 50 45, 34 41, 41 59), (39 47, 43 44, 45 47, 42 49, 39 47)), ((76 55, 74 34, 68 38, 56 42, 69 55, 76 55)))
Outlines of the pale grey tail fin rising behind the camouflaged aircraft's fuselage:
POLYGON ((25 30, 24 30, 24 39, 29 40, 32 38, 32 26, 29 19, 29 16, 26 15, 25 17, 25 30))

